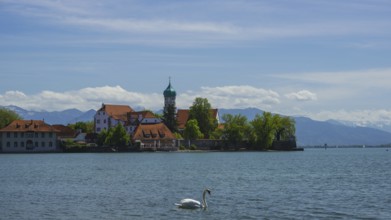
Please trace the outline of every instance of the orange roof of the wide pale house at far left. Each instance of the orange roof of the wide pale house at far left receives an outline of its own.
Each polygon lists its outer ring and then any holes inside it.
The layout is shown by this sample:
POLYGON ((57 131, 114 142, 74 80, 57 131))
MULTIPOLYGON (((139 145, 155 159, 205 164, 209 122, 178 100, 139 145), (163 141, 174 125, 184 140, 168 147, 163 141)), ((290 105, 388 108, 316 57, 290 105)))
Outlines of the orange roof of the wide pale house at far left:
POLYGON ((42 120, 15 120, 0 132, 59 132, 53 126, 42 120))

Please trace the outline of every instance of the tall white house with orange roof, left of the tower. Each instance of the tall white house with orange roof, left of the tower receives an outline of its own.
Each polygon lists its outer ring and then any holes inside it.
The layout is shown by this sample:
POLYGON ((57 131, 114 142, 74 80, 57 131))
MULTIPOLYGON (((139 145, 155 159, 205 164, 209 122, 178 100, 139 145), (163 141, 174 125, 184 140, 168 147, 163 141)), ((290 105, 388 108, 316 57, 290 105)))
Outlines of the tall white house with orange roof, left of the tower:
POLYGON ((95 113, 94 128, 96 133, 103 130, 109 130, 112 127, 121 123, 128 133, 131 133, 131 126, 128 122, 129 113, 134 110, 127 105, 107 105, 102 104, 102 107, 95 113))

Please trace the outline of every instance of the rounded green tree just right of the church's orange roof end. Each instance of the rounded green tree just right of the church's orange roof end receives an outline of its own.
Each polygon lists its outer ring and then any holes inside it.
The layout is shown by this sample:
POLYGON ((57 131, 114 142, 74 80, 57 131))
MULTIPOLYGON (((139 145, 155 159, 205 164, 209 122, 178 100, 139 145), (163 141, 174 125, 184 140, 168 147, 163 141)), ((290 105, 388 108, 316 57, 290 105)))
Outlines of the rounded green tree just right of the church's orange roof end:
POLYGON ((244 139, 248 139, 250 126, 247 117, 243 115, 223 115, 223 139, 237 147, 244 139))

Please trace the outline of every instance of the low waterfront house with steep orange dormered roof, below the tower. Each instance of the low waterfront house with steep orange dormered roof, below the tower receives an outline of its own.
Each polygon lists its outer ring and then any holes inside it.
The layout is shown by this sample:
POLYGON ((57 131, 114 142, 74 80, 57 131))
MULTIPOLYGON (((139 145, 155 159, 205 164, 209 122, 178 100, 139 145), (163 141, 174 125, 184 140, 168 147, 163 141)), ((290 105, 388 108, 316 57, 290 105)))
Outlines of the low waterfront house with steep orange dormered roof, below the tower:
POLYGON ((177 150, 175 136, 164 123, 139 124, 133 141, 140 143, 140 150, 177 150))

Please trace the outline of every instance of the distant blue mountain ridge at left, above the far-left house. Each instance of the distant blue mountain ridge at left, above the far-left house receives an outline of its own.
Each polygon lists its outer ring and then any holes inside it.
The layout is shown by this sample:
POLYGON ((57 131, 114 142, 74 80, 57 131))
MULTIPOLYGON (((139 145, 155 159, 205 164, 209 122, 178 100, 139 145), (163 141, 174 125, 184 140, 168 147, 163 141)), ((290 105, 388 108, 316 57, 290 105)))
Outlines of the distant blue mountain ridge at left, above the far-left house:
POLYGON ((87 112, 82 112, 77 109, 67 109, 64 111, 29 111, 18 106, 4 106, 18 113, 25 120, 44 120, 48 124, 70 124, 78 121, 92 121, 95 115, 95 110, 91 109, 87 112))

